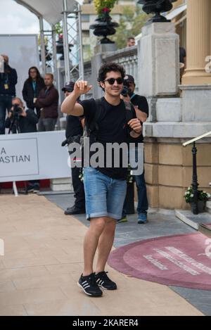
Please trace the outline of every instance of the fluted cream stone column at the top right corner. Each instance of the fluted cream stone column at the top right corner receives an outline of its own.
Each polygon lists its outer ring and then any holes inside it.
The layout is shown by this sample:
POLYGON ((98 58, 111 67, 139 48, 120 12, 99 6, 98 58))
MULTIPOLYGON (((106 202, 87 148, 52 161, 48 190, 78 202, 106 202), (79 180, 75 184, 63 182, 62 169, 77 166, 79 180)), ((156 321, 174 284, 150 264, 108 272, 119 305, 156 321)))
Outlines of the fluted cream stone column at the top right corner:
POLYGON ((205 58, 210 54, 210 0, 187 1, 187 68, 182 84, 211 84, 205 72, 205 58))

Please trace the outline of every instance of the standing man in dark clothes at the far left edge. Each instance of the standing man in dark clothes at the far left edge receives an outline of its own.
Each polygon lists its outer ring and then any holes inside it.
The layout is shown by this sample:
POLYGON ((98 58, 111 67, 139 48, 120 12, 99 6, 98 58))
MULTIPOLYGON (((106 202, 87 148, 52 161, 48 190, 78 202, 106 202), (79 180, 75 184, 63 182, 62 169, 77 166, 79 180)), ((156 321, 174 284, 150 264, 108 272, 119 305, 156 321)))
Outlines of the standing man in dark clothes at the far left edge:
POLYGON ((5 134, 6 110, 9 111, 11 108, 18 75, 16 70, 8 65, 8 56, 1 55, 2 58, 4 59, 4 69, 0 73, 0 134, 5 134))

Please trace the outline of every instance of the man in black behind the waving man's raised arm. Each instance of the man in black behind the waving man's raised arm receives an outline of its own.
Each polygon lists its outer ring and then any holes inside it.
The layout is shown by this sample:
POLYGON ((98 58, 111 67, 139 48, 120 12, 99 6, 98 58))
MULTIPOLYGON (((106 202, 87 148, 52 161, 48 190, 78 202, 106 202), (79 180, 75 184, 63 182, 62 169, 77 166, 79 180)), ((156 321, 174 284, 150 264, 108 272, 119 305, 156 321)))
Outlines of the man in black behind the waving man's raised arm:
MULTIPOLYGON (((65 97, 69 96, 74 89, 75 82, 68 82, 62 91, 65 92, 65 97)), ((66 144, 74 142, 79 143, 80 137, 83 134, 83 119, 75 117, 74 115, 68 115, 66 122, 66 144)), ((71 155, 71 153, 70 153, 71 155)), ((65 215, 77 215, 85 213, 85 195, 84 195, 84 184, 79 179, 79 174, 82 169, 79 167, 72 167, 72 186, 75 193, 75 204, 65 210, 65 215)))

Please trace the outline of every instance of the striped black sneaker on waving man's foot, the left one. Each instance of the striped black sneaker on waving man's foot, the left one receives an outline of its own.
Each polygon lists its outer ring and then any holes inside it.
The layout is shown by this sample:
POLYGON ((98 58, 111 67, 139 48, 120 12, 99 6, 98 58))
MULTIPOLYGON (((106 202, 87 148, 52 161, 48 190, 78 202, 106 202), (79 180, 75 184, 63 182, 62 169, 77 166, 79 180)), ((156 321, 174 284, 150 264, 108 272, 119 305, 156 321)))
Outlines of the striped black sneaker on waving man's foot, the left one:
POLYGON ((88 296, 101 297, 103 294, 101 289, 96 284, 94 273, 88 276, 82 275, 79 278, 77 285, 79 286, 79 288, 82 288, 84 290, 84 293, 86 293, 88 296))

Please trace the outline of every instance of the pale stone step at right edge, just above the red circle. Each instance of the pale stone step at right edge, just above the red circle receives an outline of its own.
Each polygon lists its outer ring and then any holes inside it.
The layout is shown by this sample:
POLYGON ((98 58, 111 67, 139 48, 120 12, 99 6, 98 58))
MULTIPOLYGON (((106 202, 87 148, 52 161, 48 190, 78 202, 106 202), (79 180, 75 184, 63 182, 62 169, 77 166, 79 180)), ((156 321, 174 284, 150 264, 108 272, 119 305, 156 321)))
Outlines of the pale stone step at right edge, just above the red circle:
POLYGON ((208 212, 193 215, 191 211, 175 210, 175 215, 179 220, 196 230, 199 229, 200 224, 211 224, 211 214, 208 212))

